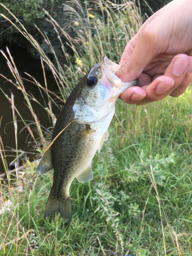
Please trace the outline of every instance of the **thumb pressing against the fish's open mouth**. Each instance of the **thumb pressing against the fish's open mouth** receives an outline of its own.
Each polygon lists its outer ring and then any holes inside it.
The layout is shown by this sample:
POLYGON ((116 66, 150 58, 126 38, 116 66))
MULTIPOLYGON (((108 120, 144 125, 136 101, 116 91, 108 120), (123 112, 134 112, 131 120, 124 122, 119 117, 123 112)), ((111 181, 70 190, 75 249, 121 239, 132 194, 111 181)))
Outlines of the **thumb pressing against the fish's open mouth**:
POLYGON ((125 47, 120 64, 115 75, 123 82, 129 82, 141 75, 145 67, 158 54, 157 37, 143 31, 139 38, 132 38, 125 47), (138 39, 138 40, 137 40, 138 39))

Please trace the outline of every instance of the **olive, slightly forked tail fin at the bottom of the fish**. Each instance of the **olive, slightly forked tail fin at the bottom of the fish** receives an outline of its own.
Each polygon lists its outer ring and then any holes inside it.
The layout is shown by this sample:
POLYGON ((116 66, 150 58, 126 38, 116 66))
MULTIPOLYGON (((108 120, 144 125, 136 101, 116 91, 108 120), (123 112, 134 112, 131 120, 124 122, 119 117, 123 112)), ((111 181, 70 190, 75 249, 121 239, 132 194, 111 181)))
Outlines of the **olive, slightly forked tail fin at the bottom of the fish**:
POLYGON ((47 220, 54 212, 59 211, 60 215, 65 220, 71 220, 72 207, 70 196, 67 198, 56 199, 52 194, 52 189, 47 201, 44 218, 47 220))

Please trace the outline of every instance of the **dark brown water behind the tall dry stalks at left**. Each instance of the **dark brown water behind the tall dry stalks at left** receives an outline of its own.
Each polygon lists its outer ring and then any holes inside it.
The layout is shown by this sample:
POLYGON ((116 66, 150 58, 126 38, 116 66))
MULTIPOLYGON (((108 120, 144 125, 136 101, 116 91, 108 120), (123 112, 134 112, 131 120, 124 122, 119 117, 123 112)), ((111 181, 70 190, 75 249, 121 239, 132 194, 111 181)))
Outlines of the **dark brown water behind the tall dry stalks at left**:
MULTIPOLYGON (((34 76, 35 79, 43 86, 44 85, 44 76, 42 73, 41 63, 40 60, 34 59, 31 55, 26 52, 25 50, 18 48, 16 46, 11 47, 10 49, 11 54, 14 58, 16 63, 16 67, 19 73, 27 78, 24 72, 29 73, 30 75, 34 76)), ((6 76, 9 79, 14 81, 14 78, 11 75, 10 70, 7 67, 7 63, 3 55, 0 53, 0 73, 6 76)), ((48 89, 51 91, 56 90, 56 85, 54 84, 53 78, 51 76, 51 72, 46 72, 47 82, 48 82, 48 89)), ((29 79, 29 78, 28 78, 29 79)), ((40 92, 37 90, 37 87, 30 82, 24 81, 25 88, 28 92, 31 92, 35 98, 44 104, 40 92)), ((15 105, 22 115, 22 117, 26 120, 32 120, 32 116, 30 111, 28 110, 27 106, 25 105, 25 99, 22 92, 16 89, 13 84, 10 82, 5 81, 5 79, 1 76, 0 77, 0 88, 11 97, 11 92, 14 95, 14 102, 15 105)), ((39 106, 36 102, 31 102, 32 106, 35 110, 35 114, 37 118, 40 120, 40 124, 45 127, 50 127, 51 123, 48 117, 47 112, 39 106)), ((57 110, 58 112, 58 110, 57 110)), ((16 148, 15 146, 15 136, 14 136, 14 126, 13 126, 13 114, 10 102, 6 99, 5 95, 0 91, 0 117, 2 117, 2 123, 0 127, 0 133, 4 144, 4 149, 6 150, 6 159, 7 163, 9 164, 11 161, 14 160, 15 153, 11 151, 11 148, 16 148)), ((18 126, 18 133, 24 127, 24 124, 19 121, 20 118, 17 115, 17 126, 18 126)), ((32 120, 34 121, 34 120, 32 120)), ((32 127, 31 127, 32 128, 32 127)), ((31 140, 27 129, 24 129, 20 134, 17 136, 17 145, 18 149, 23 151, 30 152, 32 149, 32 145, 29 143, 31 140)), ((32 154, 27 155, 30 160, 32 159, 32 154)), ((34 156, 33 156, 34 157, 34 156)), ((4 173, 4 167, 2 159, 0 159, 0 173, 4 173)))

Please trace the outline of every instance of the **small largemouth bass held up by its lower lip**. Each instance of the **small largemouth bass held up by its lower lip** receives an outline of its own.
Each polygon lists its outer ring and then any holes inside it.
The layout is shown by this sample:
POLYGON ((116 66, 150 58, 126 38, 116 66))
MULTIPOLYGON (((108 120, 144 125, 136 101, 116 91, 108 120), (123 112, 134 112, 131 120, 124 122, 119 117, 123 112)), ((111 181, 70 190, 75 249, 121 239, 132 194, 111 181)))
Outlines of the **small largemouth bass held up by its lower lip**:
POLYGON ((93 179, 92 159, 108 139, 115 101, 124 90, 138 83, 138 79, 122 82, 115 75, 119 67, 104 56, 78 82, 63 106, 52 141, 61 134, 45 152, 37 168, 39 175, 54 169, 45 219, 58 211, 63 219, 71 220, 69 190, 72 181, 75 177, 79 182, 93 179))

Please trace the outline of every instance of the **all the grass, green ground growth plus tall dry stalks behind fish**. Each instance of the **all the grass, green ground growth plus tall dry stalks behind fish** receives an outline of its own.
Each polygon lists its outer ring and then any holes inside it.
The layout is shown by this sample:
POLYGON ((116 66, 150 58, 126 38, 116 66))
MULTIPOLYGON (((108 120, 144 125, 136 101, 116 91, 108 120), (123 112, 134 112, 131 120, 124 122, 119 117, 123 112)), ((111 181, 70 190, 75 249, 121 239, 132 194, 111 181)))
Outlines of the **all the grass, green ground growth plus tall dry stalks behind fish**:
MULTIPOLYGON (((34 86, 48 98, 48 105, 45 103, 42 108, 46 109, 53 124, 52 106, 56 104, 60 108, 63 105, 92 62, 95 64, 104 54, 118 60, 126 42, 141 25, 141 17, 133 3, 126 8, 106 1, 97 3, 102 3, 100 12, 104 19, 99 18, 96 11, 89 10, 95 14, 91 18, 84 12, 86 6, 81 9, 83 18, 76 19, 75 11, 71 9, 70 17, 78 20, 83 29, 78 28, 78 40, 49 17, 49 22, 58 32, 61 46, 60 35, 67 38, 73 50, 74 55, 70 56, 62 48, 66 65, 59 62, 48 38, 42 33, 45 44, 55 56, 54 67, 37 41, 20 24, 20 32, 40 52, 42 68, 46 62, 58 84, 59 92, 52 93, 47 88, 46 77, 43 87, 29 76, 34 86)), ((70 12, 69 7, 65 8, 70 12)), ((16 20, 14 26, 19 24, 16 20)), ((70 19, 70 23, 73 24, 74 20, 70 19)), ((35 131, 23 120, 35 145, 34 157, 39 158, 51 138, 42 130, 30 103, 31 99, 36 99, 25 91, 24 81, 9 52, 6 58, 13 75, 12 83, 23 92, 36 124, 38 140, 35 131)), ((59 214, 44 220, 53 178, 51 171, 41 176, 36 174, 38 162, 25 163, 25 172, 9 178, 7 183, 0 180, 3 202, 0 209, 8 203, 11 205, 0 215, 0 255, 191 256, 191 93, 190 87, 178 98, 167 97, 142 106, 117 100, 110 136, 93 160, 94 179, 88 183, 79 183, 75 179, 71 185, 71 222, 60 218, 59 214)), ((19 113, 13 96, 6 97, 12 105, 17 145, 19 113)), ((1 136, 0 150, 7 172, 1 136)), ((17 159, 23 154, 17 148, 16 153, 17 159)))

